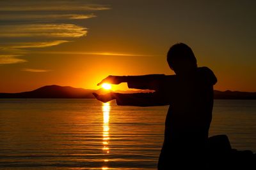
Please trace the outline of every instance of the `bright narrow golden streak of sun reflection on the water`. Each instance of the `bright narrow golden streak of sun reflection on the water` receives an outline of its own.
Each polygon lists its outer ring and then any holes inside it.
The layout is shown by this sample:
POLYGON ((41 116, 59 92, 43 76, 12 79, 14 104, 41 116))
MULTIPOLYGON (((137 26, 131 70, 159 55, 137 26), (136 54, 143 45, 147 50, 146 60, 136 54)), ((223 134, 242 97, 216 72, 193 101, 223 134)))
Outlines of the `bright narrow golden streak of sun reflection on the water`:
MULTIPOLYGON (((109 111, 110 111, 110 105, 109 103, 103 103, 102 104, 102 111, 103 111, 103 131, 102 131, 102 150, 104 153, 109 153, 109 111)), ((104 159, 104 162, 108 162, 108 159, 104 159)), ((106 165, 102 167, 102 169, 108 169, 106 165)))

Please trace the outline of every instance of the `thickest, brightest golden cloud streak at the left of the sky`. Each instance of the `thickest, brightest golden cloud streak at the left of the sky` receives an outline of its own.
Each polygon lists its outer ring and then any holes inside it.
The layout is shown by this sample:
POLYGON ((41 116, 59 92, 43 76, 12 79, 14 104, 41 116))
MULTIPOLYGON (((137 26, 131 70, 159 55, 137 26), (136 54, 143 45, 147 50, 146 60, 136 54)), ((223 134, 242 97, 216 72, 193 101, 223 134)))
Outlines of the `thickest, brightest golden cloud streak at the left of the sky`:
POLYGON ((86 28, 74 24, 18 24, 0 27, 0 37, 4 38, 79 38, 86 33, 86 28))

